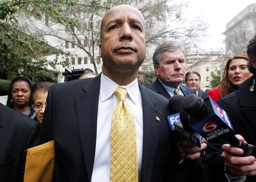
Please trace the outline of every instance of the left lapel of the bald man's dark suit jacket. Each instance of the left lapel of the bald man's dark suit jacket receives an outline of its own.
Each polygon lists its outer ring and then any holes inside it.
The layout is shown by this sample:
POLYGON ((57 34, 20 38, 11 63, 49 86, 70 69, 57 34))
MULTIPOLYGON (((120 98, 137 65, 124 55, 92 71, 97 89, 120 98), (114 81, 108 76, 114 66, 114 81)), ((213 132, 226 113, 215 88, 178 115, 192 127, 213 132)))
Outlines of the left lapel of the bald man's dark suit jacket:
POLYGON ((86 172, 90 181, 96 148, 100 75, 88 81, 82 89, 85 91, 85 94, 75 98, 76 117, 86 172))

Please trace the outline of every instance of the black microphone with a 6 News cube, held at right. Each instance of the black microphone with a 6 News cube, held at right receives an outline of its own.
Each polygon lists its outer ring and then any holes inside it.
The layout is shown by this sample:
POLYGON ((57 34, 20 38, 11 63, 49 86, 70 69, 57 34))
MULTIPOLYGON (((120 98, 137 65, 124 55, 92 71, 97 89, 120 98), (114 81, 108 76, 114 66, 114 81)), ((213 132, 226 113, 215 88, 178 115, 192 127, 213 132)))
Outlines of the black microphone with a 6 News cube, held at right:
POLYGON ((214 142, 216 139, 222 139, 230 146, 242 149, 243 156, 248 156, 253 152, 253 145, 242 143, 234 136, 234 129, 228 115, 212 98, 208 97, 203 100, 191 94, 183 100, 182 108, 191 116, 191 120, 186 121, 186 124, 182 120, 181 122, 191 127, 207 141, 214 142))

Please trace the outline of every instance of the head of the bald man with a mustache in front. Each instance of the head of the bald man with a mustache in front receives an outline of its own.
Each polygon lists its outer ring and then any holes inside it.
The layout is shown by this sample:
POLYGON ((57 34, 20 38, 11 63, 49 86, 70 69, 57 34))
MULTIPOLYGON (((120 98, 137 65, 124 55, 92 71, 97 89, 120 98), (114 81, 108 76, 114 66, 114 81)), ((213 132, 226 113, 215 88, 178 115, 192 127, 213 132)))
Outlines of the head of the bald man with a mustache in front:
POLYGON ((146 57, 144 18, 137 9, 121 5, 110 9, 102 19, 100 56, 102 71, 133 70, 146 57))

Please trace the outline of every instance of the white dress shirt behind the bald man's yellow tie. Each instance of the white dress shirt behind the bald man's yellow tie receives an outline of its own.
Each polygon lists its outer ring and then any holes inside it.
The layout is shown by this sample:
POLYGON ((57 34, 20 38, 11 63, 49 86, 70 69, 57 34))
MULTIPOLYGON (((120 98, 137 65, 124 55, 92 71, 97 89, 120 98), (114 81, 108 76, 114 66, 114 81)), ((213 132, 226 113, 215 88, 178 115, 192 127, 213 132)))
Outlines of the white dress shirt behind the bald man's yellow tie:
MULTIPOLYGON (((97 116, 97 138, 96 151, 93 165, 92 182, 109 182, 110 179, 110 128, 112 113, 118 103, 117 96, 114 95, 118 84, 101 74, 100 97, 98 100, 97 116)), ((141 91, 139 91, 137 78, 127 86, 126 103, 131 108, 135 120, 138 152, 139 176, 142 166, 142 146, 143 146, 143 113, 141 91)))

